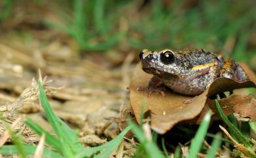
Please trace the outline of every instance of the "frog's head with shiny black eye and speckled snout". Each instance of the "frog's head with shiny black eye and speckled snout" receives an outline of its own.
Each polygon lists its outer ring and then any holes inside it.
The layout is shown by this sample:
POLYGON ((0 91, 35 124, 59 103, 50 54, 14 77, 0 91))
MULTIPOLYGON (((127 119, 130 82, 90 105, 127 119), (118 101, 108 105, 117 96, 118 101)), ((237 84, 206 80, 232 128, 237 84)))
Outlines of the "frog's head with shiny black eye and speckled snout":
POLYGON ((142 69, 153 75, 182 75, 182 66, 179 52, 170 49, 160 51, 142 50, 139 54, 142 69))

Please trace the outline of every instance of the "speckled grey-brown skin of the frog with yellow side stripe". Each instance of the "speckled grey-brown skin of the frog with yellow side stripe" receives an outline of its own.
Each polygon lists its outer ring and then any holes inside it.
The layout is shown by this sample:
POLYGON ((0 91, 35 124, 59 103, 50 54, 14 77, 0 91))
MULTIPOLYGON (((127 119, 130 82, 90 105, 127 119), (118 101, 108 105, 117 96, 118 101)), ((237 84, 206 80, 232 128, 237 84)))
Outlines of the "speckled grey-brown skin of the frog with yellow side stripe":
POLYGON ((244 70, 232 59, 223 58, 203 49, 142 50, 142 69, 154 75, 148 87, 163 83, 174 92, 185 95, 201 94, 217 77, 238 81, 247 79, 244 70), (170 63, 163 62, 161 54, 171 53, 170 63))

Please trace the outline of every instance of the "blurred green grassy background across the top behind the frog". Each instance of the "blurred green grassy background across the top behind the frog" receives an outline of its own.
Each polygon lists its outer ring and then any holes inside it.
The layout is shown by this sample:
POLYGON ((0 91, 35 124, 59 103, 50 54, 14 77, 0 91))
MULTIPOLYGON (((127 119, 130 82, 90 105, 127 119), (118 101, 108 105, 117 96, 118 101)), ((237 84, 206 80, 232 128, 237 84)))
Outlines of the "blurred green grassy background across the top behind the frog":
POLYGON ((84 54, 203 48, 256 69, 255 4, 253 0, 1 0, 0 33, 56 30, 84 54))

